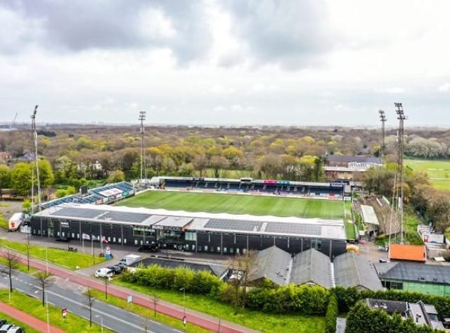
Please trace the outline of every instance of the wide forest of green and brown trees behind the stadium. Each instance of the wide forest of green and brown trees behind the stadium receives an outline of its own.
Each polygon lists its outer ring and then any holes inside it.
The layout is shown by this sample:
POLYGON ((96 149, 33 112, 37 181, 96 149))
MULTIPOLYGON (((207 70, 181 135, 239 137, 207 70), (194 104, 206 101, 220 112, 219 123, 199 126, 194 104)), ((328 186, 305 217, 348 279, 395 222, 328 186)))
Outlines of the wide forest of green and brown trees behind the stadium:
MULTIPOLYGON (((322 181, 331 154, 378 156, 380 130, 349 127, 189 127, 148 126, 143 175, 254 177, 322 181)), ((138 126, 52 125, 38 128, 42 187, 56 196, 75 193, 81 184, 140 177, 138 126)), ((450 130, 405 130, 409 158, 449 158, 450 130)), ((390 196, 397 130, 387 129, 382 170, 367 172, 366 189, 390 196)), ((29 128, 0 132, 0 189, 30 193, 34 159, 29 128), (3 153, 1 153, 3 152, 3 153), (3 158, 4 161, 1 161, 3 158)), ((426 221, 448 227, 450 201, 430 187, 428 176, 406 170, 405 196, 426 221)))

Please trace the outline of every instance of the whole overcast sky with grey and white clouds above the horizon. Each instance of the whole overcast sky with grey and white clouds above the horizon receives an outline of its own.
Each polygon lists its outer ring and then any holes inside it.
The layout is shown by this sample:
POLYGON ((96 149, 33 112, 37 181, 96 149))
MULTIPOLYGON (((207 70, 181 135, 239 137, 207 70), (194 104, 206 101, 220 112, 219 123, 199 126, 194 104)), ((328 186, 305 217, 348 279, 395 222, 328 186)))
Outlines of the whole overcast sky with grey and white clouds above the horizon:
POLYGON ((0 122, 450 126, 450 1, 1 1, 0 122))

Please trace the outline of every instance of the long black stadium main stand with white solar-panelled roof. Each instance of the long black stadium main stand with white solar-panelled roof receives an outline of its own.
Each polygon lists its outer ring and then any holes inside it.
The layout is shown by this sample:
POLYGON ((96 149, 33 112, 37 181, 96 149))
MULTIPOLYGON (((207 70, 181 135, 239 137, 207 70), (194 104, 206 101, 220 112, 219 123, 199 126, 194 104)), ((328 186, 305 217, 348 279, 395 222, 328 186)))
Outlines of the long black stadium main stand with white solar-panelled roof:
POLYGON ((345 253, 342 220, 191 213, 163 209, 63 203, 33 215, 32 235, 73 240, 105 239, 110 244, 157 242, 163 249, 245 253, 278 246, 288 253, 316 249, 345 253))

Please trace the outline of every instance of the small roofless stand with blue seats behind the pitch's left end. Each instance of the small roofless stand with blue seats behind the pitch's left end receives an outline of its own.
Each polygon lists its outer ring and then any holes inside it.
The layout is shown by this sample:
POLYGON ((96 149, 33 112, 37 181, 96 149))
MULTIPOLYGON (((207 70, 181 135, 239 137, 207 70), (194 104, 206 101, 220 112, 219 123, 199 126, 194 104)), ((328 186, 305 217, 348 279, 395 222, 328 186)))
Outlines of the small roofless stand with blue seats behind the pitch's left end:
POLYGON ((50 208, 62 203, 92 203, 95 205, 103 205, 104 203, 115 202, 133 196, 135 193, 136 189, 129 182, 117 182, 95 189, 80 189, 79 194, 72 194, 70 196, 64 196, 63 198, 47 201, 41 204, 41 208, 50 208))

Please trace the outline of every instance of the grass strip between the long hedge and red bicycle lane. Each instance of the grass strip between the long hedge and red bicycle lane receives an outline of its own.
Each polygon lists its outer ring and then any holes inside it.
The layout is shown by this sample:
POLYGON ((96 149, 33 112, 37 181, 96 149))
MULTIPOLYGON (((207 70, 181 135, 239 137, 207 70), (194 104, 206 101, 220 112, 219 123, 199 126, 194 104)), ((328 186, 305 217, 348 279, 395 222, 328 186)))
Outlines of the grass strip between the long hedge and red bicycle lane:
MULTIPOLYGON (((122 282, 120 279, 115 279, 113 283, 183 306, 181 292, 136 286, 136 284, 122 282)), ((325 329, 325 317, 269 314, 246 309, 240 309, 238 315, 233 315, 232 306, 197 294, 186 293, 186 308, 198 310, 229 322, 236 322, 264 333, 321 333, 325 329)))

